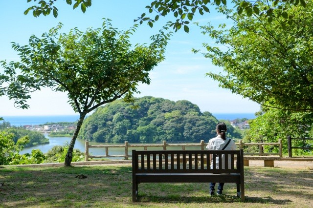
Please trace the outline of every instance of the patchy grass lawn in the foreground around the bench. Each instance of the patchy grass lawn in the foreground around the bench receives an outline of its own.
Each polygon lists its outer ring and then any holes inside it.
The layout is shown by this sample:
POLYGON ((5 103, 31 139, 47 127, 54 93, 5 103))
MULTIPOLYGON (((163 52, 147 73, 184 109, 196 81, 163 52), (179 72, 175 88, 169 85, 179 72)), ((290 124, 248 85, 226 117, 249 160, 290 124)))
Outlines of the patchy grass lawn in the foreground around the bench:
POLYGON ((132 167, 0 167, 0 207, 162 207, 227 208, 313 205, 310 168, 245 167, 246 201, 236 198, 235 184, 223 196, 208 195, 208 184, 139 184, 132 201, 132 167), (84 174, 85 179, 76 178, 84 174), (3 185, 2 185, 3 184, 3 185))

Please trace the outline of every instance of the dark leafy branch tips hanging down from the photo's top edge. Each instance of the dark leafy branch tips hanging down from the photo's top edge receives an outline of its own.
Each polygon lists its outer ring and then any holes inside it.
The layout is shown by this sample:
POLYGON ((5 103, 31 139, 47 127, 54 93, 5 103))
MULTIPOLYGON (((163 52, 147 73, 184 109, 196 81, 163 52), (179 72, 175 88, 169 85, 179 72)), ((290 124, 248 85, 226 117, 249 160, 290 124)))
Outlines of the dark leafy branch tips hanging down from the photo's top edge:
MULTIPOLYGON (((27 2, 37 1, 37 0, 27 0, 27 2)), ((49 15, 52 11, 52 14, 55 18, 58 16, 58 8, 54 6, 54 3, 57 0, 40 0, 38 5, 33 5, 27 8, 24 14, 28 14, 29 11, 33 11, 33 16, 38 17, 41 14, 49 15)), ((68 5, 73 4, 73 9, 80 6, 82 12, 85 13, 86 9, 91 6, 91 0, 66 0, 68 5)), ((226 5, 226 0, 153 0, 150 5, 146 6, 151 15, 156 14, 154 18, 146 16, 146 13, 143 13, 135 21, 140 21, 140 24, 143 21, 147 21, 150 27, 153 27, 153 23, 159 20, 159 17, 165 17, 169 14, 172 14, 176 21, 171 24, 173 28, 177 31, 183 25, 184 31, 189 32, 189 27, 187 24, 193 20, 193 17, 197 12, 200 15, 204 13, 209 13, 210 9, 208 8, 209 4, 215 7, 218 7, 222 4, 226 5), (186 19, 185 19, 186 18, 186 19)), ((236 7, 238 14, 246 14, 251 16, 252 14, 264 15, 269 18, 275 17, 275 12, 283 13, 285 10, 284 4, 290 3, 295 6, 300 4, 305 7, 305 0, 232 0, 232 3, 236 7), (265 2, 265 3, 263 3, 265 2)), ((284 14, 286 15, 286 13, 284 14)), ((291 15, 292 17, 293 15, 291 15)), ((287 16, 288 17, 288 16, 287 16)), ((292 18, 289 18, 286 24, 292 23, 292 18)))

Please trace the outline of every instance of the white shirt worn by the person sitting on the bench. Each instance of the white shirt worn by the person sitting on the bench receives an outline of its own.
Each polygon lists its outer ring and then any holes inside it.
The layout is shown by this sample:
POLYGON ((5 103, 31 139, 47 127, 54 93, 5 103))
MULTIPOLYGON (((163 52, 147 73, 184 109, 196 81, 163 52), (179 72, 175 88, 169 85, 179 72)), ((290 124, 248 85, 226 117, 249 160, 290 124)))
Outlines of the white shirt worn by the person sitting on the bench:
MULTIPOLYGON (((229 138, 225 140, 221 138, 221 135, 218 135, 215 138, 209 140, 206 148, 208 150, 221 150, 227 144, 229 138)), ((224 150, 236 150, 236 144, 234 141, 230 140, 229 144, 224 148, 224 150)), ((214 155, 213 155, 214 157, 214 155)), ((225 169, 225 155, 222 155, 222 169, 225 169)), ((230 155, 228 155, 228 168, 230 169, 230 155)), ((216 158, 216 169, 219 169, 219 158, 216 158)), ((211 168, 213 168, 213 164, 211 164, 211 168)))

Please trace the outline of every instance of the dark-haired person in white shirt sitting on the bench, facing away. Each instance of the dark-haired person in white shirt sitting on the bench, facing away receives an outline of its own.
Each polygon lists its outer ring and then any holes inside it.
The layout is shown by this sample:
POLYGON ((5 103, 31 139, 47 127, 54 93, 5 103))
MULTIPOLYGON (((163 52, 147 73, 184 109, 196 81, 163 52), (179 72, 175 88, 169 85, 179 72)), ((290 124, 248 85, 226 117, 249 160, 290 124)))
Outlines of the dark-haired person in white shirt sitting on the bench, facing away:
MULTIPOLYGON (((216 125, 217 137, 209 140, 206 148, 208 150, 236 150, 236 145, 234 141, 229 138, 226 138, 227 127, 224 122, 220 122, 216 125)), ((215 155, 214 155, 215 156, 215 155)), ((217 155, 216 155, 217 156, 217 155)), ((216 157, 215 156, 215 157, 216 157)), ((225 169, 225 156, 222 155, 222 169, 225 169)), ((210 160, 212 161, 212 155, 210 155, 210 160)), ((216 169, 219 169, 219 157, 216 157, 216 169)), ((211 168, 213 164, 211 163, 211 168)), ((228 168, 230 169, 230 157, 228 157, 228 168)), ((219 183, 217 194, 221 195, 223 191, 224 183, 219 183)), ((215 190, 215 183, 210 183, 210 196, 213 196, 215 190)))

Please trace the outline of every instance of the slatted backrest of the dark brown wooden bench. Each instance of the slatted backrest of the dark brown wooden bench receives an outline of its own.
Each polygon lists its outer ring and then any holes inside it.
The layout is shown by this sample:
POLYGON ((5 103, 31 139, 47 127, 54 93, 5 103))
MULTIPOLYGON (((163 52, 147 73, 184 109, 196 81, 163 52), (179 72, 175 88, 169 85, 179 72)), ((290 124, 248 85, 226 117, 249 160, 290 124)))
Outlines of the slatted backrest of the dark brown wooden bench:
POLYGON ((241 173, 244 166, 243 150, 143 150, 132 152, 133 173, 241 173), (213 155, 212 162, 209 155, 213 155), (216 169, 216 157, 222 167, 216 169), (228 168, 228 158, 231 164, 228 168), (235 163, 235 161, 237 161, 235 163), (211 163, 213 168, 210 168, 211 163))

